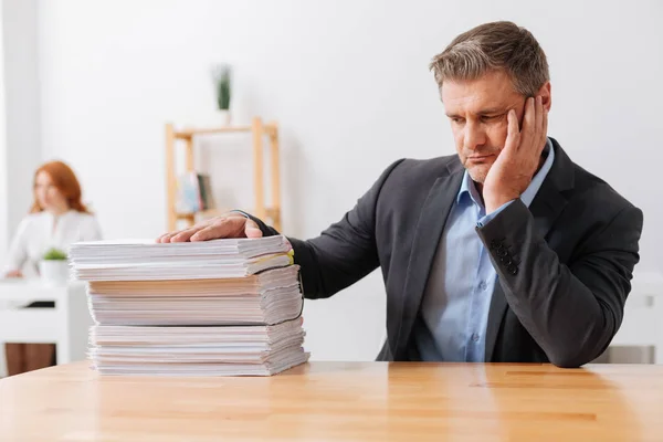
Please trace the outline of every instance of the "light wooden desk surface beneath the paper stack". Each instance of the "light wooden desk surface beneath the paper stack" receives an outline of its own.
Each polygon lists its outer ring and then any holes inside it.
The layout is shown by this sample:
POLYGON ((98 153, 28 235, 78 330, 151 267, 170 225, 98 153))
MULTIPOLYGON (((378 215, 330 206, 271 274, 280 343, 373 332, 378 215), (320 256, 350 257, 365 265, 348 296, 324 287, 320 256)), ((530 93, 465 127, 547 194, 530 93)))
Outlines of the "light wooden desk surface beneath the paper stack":
POLYGON ((663 366, 311 362, 271 378, 0 380, 0 441, 663 441, 663 366))

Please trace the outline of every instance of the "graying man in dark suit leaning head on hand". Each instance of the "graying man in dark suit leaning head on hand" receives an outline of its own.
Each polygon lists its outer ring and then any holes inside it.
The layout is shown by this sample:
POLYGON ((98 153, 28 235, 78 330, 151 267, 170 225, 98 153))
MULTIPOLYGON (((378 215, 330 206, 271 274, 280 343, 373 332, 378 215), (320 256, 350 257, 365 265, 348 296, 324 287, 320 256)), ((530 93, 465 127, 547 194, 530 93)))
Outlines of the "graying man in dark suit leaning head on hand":
MULTIPOLYGON (((305 296, 381 267, 379 360, 591 361, 621 324, 642 212, 547 137, 548 64, 528 31, 480 25, 431 70, 457 156, 396 161, 319 236, 290 239, 305 296)), ((159 241, 273 234, 229 213, 159 241)))

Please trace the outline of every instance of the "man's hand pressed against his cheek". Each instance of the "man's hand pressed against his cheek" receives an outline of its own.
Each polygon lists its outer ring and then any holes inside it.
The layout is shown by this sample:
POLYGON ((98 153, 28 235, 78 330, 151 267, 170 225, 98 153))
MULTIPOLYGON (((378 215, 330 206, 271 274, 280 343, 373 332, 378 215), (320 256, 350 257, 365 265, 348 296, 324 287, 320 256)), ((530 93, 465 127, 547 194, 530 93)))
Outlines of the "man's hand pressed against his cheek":
POLYGON ((504 149, 491 167, 483 186, 486 213, 520 197, 536 173, 546 146, 548 112, 540 96, 527 98, 522 130, 518 130, 515 110, 509 110, 507 118, 508 133, 504 149))

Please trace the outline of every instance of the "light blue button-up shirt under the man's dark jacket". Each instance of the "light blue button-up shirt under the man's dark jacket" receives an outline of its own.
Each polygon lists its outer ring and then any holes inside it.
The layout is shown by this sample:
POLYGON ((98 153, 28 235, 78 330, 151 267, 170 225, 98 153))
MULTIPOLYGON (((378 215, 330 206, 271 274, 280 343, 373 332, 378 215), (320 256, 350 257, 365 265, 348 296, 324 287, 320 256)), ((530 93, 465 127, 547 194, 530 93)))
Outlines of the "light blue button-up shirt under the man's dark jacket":
MULTIPOLYGON (((548 139, 548 156, 520 196, 529 207, 552 167, 555 151, 548 139)), ((414 340, 422 360, 483 362, 491 297, 497 274, 475 228, 486 224, 513 201, 486 217, 482 198, 465 170, 461 189, 433 263, 421 303, 414 340)))

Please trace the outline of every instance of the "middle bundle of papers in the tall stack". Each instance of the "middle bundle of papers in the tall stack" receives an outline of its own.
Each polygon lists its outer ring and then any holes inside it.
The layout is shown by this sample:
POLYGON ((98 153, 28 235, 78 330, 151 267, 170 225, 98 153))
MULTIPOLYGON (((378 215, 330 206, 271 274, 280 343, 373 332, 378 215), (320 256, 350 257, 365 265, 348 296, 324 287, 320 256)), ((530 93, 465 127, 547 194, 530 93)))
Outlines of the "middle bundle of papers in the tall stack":
POLYGON ((88 304, 106 325, 273 325, 299 316, 298 266, 241 278, 93 281, 88 304))

